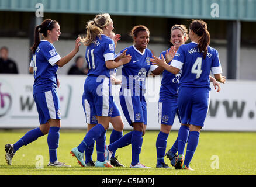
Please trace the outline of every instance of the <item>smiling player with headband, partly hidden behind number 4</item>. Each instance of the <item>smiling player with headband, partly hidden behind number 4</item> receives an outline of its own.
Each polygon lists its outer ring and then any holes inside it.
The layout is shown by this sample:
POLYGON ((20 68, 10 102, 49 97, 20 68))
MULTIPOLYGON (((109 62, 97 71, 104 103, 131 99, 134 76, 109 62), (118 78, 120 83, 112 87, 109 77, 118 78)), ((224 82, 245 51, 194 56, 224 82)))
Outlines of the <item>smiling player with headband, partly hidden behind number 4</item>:
MULTIPOLYGON (((188 29, 184 25, 174 25, 171 27, 171 43, 172 47, 166 51, 163 51, 160 54, 163 54, 165 60, 168 64, 171 64, 172 59, 174 58, 174 54, 179 49, 179 46, 185 44, 188 41, 188 29)), ((178 83, 179 78, 181 77, 181 72, 179 74, 174 75, 167 70, 162 72, 162 81, 160 87, 160 98, 158 102, 158 117, 159 123, 161 124, 160 133, 158 134, 156 141, 157 148, 157 168, 170 168, 164 162, 164 154, 167 145, 167 138, 169 136, 169 132, 171 131, 172 124, 174 123, 175 114, 177 114, 179 121, 179 112, 178 112, 178 83)), ((213 82, 213 86, 216 89, 218 87, 217 92, 220 91, 220 84, 216 81, 215 78, 210 76, 210 81, 213 82)), ((188 124, 181 124, 180 131, 189 131, 188 124)), ((179 137, 180 139, 180 137, 179 137)), ((179 141, 179 143, 183 143, 183 141, 179 141)), ((185 142, 186 143, 186 142, 185 142)), ((178 147, 178 138, 175 141, 172 148, 167 152, 166 156, 171 160, 171 164, 175 165, 175 159, 177 157, 177 147, 178 147)))

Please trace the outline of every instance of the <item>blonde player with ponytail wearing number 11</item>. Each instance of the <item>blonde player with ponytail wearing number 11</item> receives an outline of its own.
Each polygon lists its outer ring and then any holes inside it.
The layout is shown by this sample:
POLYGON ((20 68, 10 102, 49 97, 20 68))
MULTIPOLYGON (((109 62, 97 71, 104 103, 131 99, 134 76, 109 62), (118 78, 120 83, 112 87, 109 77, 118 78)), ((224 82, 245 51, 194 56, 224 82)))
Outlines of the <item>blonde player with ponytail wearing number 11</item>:
POLYGON ((83 155, 85 149, 91 147, 97 140, 95 167, 113 167, 105 160, 104 155, 106 130, 113 112, 110 70, 129 63, 131 59, 126 55, 126 51, 123 51, 118 61, 114 61, 115 43, 108 37, 113 29, 113 21, 108 13, 96 15, 87 24, 84 44, 87 46, 85 58, 89 71, 84 84, 84 105, 87 115, 96 114, 98 124, 88 131, 78 147, 71 150, 71 154, 77 158, 81 166, 86 166, 83 155))

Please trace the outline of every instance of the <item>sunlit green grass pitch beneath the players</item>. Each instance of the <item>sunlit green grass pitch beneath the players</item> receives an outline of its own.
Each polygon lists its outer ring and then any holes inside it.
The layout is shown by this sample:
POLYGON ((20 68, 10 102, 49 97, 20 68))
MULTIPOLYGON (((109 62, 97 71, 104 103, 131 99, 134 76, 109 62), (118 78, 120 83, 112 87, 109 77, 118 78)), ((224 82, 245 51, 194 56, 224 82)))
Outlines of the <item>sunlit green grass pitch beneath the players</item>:
MULTIPOLYGON (((107 144, 111 131, 108 130, 107 133, 107 144)), ((191 168, 195 171, 155 168, 158 131, 146 131, 140 154, 140 162, 152 169, 129 168, 132 156, 130 145, 116 152, 119 161, 126 166, 124 168, 80 167, 70 150, 81 143, 85 130, 60 131, 58 160, 71 165, 71 168, 47 167, 47 136, 20 148, 13 157, 12 165, 7 165, 5 144, 15 143, 25 133, 26 131, 0 131, 0 175, 256 175, 256 133, 201 131, 198 148, 191 161, 191 168)), ((177 131, 169 134, 167 150, 171 148, 177 134, 177 131)), ((96 160, 96 150, 93 158, 96 160)), ((168 158, 165 158, 165 162, 170 165, 168 158)))

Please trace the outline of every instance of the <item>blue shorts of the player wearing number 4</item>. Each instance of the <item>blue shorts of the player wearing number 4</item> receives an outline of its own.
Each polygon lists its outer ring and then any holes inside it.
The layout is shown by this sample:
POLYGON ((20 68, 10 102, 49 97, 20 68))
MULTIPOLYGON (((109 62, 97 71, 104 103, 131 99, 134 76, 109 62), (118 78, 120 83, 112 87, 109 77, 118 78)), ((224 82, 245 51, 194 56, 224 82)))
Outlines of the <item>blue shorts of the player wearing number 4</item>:
POLYGON ((179 87, 178 108, 183 124, 203 127, 209 104, 210 88, 179 87))

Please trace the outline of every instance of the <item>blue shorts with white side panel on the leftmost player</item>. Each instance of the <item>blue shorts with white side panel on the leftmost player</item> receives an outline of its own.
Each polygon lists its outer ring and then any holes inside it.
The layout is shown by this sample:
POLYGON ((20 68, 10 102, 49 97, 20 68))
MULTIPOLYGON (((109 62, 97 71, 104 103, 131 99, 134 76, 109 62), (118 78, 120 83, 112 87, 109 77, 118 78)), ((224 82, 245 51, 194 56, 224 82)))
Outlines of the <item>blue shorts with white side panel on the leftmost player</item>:
POLYGON ((55 88, 44 93, 36 93, 33 97, 40 124, 45 124, 49 119, 61 119, 60 100, 55 88))

